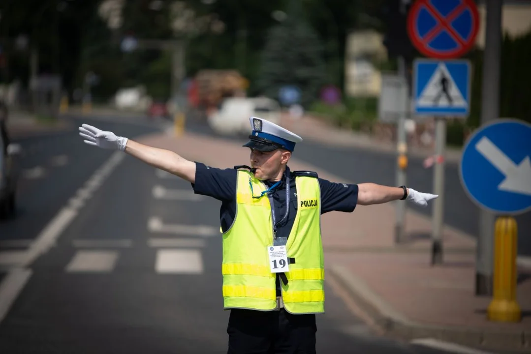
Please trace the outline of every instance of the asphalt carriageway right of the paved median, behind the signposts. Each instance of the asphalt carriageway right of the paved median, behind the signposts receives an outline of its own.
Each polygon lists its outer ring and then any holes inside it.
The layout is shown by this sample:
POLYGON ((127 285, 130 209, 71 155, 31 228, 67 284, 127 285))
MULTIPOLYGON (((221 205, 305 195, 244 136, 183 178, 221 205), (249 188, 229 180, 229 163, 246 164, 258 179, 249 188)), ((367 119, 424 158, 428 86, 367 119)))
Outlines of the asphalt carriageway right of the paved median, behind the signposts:
MULTIPOLYGON (((216 135, 203 124, 191 122, 190 131, 216 135)), ((241 142, 246 137, 224 137, 241 142)), ((303 137, 304 139, 304 137, 303 137)), ((388 186, 396 185, 396 156, 354 147, 338 147, 305 139, 293 154, 294 158, 322 168, 354 183, 373 182, 388 186)), ((407 168, 407 185, 419 192, 433 191, 433 169, 422 166, 423 159, 410 157, 407 168)), ((342 182, 342 181, 336 181, 342 182)), ((431 217, 432 205, 427 208, 408 204, 408 207, 431 217)), ((518 254, 531 256, 531 211, 516 217, 518 224, 518 254)), ((459 180, 457 163, 446 163, 444 171, 443 222, 467 234, 479 235, 479 208, 466 195, 459 180)), ((430 237, 430 235, 425 235, 430 237)))

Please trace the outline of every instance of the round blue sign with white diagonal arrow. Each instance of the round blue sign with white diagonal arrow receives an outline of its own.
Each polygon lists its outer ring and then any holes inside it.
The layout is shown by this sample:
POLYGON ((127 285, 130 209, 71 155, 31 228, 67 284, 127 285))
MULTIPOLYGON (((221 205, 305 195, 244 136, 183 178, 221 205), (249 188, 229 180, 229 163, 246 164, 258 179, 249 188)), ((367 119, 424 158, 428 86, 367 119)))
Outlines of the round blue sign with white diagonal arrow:
POLYGON ((461 184, 480 208, 499 214, 531 210, 531 124, 498 119, 463 149, 461 184))

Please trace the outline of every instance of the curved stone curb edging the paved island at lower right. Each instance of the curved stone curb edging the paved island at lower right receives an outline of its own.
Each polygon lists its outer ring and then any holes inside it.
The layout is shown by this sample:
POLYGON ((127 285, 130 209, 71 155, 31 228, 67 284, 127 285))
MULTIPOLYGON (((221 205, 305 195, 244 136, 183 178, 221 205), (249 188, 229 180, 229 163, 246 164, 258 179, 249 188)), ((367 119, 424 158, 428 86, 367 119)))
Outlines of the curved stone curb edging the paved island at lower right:
POLYGON ((484 350, 501 350, 514 353, 531 352, 530 331, 478 330, 457 326, 434 326, 409 320, 393 309, 367 284, 349 272, 345 267, 332 265, 329 273, 344 287, 354 301, 371 317, 384 335, 393 339, 411 341, 419 338, 433 338, 463 346, 484 350))

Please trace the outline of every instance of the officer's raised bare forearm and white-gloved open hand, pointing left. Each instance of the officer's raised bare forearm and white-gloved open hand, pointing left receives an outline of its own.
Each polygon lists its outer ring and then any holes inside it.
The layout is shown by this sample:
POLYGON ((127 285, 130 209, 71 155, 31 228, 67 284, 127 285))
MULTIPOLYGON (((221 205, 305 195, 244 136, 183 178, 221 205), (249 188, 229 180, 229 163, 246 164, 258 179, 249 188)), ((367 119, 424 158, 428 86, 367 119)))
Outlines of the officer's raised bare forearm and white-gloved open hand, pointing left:
POLYGON ((116 136, 113 132, 83 124, 79 128, 79 135, 84 142, 102 149, 124 151, 131 156, 161 170, 179 176, 188 182, 195 182, 195 163, 188 161, 173 151, 153 148, 139 142, 116 136))

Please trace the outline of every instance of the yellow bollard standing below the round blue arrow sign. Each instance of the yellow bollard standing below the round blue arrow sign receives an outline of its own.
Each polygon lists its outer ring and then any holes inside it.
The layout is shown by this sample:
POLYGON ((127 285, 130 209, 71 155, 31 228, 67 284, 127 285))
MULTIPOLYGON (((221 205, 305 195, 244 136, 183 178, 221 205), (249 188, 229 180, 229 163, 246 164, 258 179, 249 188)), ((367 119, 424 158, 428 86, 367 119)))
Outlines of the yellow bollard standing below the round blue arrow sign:
POLYGON ((494 226, 493 298, 487 318, 498 322, 519 322, 516 302, 516 257, 518 228, 515 218, 499 217, 494 226))

